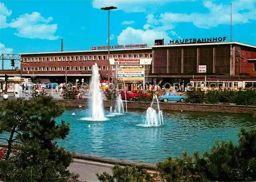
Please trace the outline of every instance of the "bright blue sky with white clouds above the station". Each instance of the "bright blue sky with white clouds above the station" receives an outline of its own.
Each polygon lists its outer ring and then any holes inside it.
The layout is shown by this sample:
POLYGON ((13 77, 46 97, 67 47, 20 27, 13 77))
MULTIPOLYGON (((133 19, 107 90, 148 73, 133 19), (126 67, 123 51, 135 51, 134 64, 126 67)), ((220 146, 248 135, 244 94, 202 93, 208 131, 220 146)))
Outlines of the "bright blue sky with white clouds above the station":
POLYGON ((61 38, 64 51, 107 45, 108 12, 100 10, 106 6, 118 8, 111 11, 111 45, 230 37, 230 3, 233 41, 256 45, 255 0, 2 1, 0 53, 12 53, 13 45, 15 54, 60 51, 61 38))

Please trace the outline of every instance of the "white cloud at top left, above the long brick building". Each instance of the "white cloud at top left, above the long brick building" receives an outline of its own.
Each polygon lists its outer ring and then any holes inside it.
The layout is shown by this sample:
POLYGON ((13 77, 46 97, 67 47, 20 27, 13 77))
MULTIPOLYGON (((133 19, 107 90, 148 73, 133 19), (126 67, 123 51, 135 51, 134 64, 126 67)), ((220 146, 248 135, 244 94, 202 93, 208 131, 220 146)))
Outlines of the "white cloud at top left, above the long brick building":
POLYGON ((18 37, 38 38, 56 40, 59 36, 54 34, 57 31, 57 24, 50 24, 52 17, 44 18, 38 12, 31 14, 23 14, 13 19, 10 23, 6 21, 6 17, 10 16, 12 11, 9 11, 4 3, 0 3, 0 28, 14 28, 17 30, 14 33, 18 37))

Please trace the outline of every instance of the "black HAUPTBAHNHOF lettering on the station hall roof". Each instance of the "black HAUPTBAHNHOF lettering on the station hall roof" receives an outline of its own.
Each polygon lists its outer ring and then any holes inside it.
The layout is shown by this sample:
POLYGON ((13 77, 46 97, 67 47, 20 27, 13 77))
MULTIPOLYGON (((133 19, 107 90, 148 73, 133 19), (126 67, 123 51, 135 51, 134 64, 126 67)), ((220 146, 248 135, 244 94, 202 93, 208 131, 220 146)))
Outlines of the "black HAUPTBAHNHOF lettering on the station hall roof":
POLYGON ((186 38, 180 40, 170 40, 170 44, 180 43, 210 43, 210 42, 224 42, 227 37, 211 37, 211 38, 186 38))

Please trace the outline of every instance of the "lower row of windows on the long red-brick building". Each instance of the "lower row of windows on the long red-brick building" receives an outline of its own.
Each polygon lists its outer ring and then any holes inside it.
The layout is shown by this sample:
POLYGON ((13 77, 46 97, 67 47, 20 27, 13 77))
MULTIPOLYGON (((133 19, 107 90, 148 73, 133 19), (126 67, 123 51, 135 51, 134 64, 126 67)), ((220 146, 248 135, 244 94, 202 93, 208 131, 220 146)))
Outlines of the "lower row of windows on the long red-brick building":
MULTIPOLYGON (((108 66, 98 66, 99 70, 106 71, 109 70, 108 66)), ((112 71, 115 71, 116 68, 115 66, 112 66, 112 71)), ((92 71, 92 66, 42 66, 42 67, 23 67, 24 72, 29 72, 29 71, 35 71, 35 72, 44 72, 44 71, 92 71)))

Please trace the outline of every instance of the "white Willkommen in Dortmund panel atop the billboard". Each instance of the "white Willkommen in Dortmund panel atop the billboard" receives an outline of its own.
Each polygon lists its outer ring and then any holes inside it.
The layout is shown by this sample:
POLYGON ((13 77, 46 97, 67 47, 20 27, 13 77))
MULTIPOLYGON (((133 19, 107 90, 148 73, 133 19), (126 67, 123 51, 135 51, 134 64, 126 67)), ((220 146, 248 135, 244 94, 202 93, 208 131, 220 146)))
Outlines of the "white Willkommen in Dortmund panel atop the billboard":
POLYGON ((110 58, 111 65, 150 65, 152 58, 110 58))

